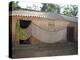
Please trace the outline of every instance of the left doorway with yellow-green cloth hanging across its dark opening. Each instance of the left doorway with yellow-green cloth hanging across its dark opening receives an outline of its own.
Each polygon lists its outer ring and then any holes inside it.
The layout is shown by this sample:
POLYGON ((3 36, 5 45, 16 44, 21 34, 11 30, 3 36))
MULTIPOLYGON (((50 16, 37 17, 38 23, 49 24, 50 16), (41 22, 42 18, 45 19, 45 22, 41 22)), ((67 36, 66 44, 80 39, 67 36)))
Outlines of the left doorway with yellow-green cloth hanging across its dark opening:
POLYGON ((19 44, 31 44, 31 31, 28 31, 31 20, 19 20, 18 25, 19 44))

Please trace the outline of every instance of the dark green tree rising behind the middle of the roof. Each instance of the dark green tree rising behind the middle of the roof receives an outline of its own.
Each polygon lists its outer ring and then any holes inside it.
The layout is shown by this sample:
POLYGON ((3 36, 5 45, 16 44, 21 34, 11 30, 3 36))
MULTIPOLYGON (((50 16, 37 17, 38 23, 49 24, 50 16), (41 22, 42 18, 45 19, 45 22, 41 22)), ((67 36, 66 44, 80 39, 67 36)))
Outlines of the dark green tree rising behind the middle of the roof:
POLYGON ((46 3, 42 3, 42 4, 43 4, 43 7, 41 8, 41 11, 60 13, 60 6, 59 5, 46 4, 46 3))

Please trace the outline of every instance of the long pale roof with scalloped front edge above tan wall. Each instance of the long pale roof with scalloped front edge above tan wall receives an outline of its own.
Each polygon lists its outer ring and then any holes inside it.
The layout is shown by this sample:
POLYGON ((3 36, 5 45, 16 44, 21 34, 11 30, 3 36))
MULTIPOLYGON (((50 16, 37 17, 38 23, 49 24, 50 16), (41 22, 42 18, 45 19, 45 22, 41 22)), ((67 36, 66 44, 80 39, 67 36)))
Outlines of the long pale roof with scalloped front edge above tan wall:
POLYGON ((51 12, 39 12, 39 11, 26 11, 26 10, 14 10, 10 14, 12 16, 32 16, 32 17, 42 17, 55 20, 68 20, 72 22, 77 22, 77 17, 70 17, 62 14, 51 13, 51 12))

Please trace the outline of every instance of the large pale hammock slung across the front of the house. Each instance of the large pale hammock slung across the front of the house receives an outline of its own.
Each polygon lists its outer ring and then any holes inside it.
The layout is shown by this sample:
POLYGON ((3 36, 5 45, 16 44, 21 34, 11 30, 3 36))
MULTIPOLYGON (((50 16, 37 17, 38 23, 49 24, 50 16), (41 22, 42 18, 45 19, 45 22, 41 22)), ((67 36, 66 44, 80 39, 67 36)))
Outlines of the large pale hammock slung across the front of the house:
POLYGON ((32 28, 32 35, 42 42, 55 43, 60 40, 65 40, 66 28, 58 32, 50 32, 39 28, 33 23, 31 24, 31 28, 32 28))

